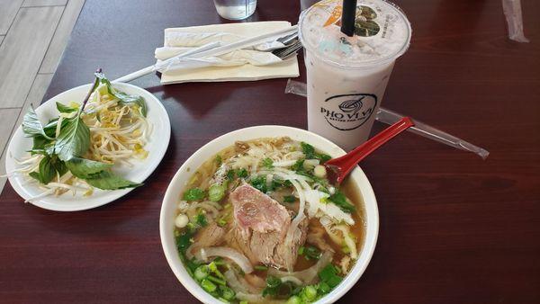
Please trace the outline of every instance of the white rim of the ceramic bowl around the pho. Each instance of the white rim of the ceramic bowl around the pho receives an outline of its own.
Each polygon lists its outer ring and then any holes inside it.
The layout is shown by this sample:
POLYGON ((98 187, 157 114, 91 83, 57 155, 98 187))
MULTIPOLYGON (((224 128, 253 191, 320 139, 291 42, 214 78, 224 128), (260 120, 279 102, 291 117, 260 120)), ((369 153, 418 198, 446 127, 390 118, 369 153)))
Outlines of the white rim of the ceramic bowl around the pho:
MULTIPOLYGON (((211 142, 193 153, 193 156, 189 157, 184 165, 178 169, 166 189, 159 217, 161 245, 163 246, 166 260, 173 270, 173 273, 175 273, 176 278, 184 285, 185 289, 203 303, 220 303, 220 301, 213 298, 206 291, 203 291, 199 284, 193 280, 189 273, 186 272, 184 264, 180 261, 180 257, 176 251, 174 236, 175 209, 177 202, 179 201, 180 193, 184 191, 184 186, 190 179, 194 170, 201 166, 203 162, 210 159, 211 156, 220 152, 221 149, 233 145, 235 141, 281 136, 288 136, 294 140, 305 141, 332 157, 345 154, 343 149, 339 148, 328 139, 324 139, 307 130, 284 126, 257 126, 235 130, 222 135, 217 139, 211 140, 211 142)), ((379 234, 379 212, 377 210, 377 201, 375 200, 374 191, 364 172, 360 168, 353 170, 350 174, 350 178, 356 183, 365 203, 365 244, 362 246, 362 251, 355 266, 347 274, 347 277, 343 282, 317 303, 335 302, 349 291, 358 279, 360 279, 362 273, 364 273, 367 264, 369 264, 369 261, 374 254, 375 244, 377 243, 377 236, 379 234)))

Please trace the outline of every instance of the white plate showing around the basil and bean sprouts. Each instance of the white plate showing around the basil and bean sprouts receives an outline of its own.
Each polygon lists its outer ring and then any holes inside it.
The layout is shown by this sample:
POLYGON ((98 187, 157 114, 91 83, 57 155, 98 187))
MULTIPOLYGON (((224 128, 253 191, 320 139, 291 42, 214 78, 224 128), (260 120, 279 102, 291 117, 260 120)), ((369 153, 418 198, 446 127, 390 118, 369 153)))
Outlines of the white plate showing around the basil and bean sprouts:
MULTIPOLYGON (((168 147, 169 139, 171 137, 171 123, 168 118, 163 104, 148 91, 141 89, 135 85, 129 84, 114 84, 120 91, 127 94, 135 94, 144 97, 148 106, 148 122, 152 125, 152 131, 148 137, 148 144, 145 149, 148 150, 148 157, 143 160, 133 160, 133 166, 121 166, 114 165, 112 170, 120 174, 122 177, 136 182, 142 183, 152 174, 156 169, 163 156, 165 156, 166 148, 168 147)), ((40 121, 49 121, 50 119, 58 117, 58 111, 56 109, 56 102, 67 103, 69 101, 82 102, 85 99, 85 95, 88 93, 90 85, 81 85, 73 88, 64 93, 58 94, 46 103, 40 105, 36 109, 40 121)), ((13 172, 19 165, 15 162, 15 158, 21 159, 23 156, 28 156, 28 151, 31 149, 32 139, 24 137, 23 129, 21 126, 15 131, 13 139, 9 143, 7 148, 7 154, 5 157, 5 169, 6 172, 13 172)), ((9 183, 12 184, 14 190, 27 200, 33 196, 36 196, 43 192, 35 183, 28 183, 21 174, 15 174, 9 177, 9 183)), ((144 187, 144 186, 143 186, 144 187)), ((76 210, 88 210, 98 206, 102 206, 111 201, 117 200, 126 195, 133 188, 103 191, 95 189, 91 196, 83 197, 82 193, 77 193, 73 196, 71 192, 64 193, 60 196, 49 195, 31 203, 48 210, 56 211, 76 211, 76 210)))

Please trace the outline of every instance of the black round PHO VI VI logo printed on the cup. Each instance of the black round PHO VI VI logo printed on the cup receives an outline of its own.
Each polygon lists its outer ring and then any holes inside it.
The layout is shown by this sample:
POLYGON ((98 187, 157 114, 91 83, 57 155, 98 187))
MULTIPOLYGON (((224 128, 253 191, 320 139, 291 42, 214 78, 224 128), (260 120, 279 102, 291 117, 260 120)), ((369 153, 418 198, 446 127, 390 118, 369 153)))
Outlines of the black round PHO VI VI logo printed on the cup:
POLYGON ((325 100, 320 113, 338 130, 355 130, 370 119, 376 106, 374 94, 342 94, 325 100))

